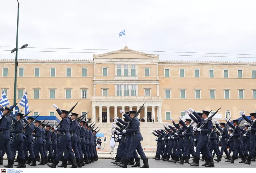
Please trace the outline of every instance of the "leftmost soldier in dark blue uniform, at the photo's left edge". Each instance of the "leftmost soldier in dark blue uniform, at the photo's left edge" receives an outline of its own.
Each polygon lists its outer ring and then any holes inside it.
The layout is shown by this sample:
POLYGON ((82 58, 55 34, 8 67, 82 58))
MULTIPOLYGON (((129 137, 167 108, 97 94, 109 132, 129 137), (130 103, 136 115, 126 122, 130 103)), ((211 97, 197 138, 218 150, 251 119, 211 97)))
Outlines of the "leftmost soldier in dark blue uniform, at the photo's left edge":
MULTIPOLYGON (((5 106, 5 109, 0 105, 0 109, 5 115, 8 110, 10 110, 9 107, 5 106)), ((12 125, 12 115, 8 114, 5 117, 1 118, 1 124, 0 124, 0 149, 4 148, 7 154, 8 158, 8 164, 5 168, 13 168, 14 164, 14 157, 12 155, 12 151, 10 148, 10 128, 12 125)), ((3 161, 3 157, 1 157, 1 160, 3 161)))

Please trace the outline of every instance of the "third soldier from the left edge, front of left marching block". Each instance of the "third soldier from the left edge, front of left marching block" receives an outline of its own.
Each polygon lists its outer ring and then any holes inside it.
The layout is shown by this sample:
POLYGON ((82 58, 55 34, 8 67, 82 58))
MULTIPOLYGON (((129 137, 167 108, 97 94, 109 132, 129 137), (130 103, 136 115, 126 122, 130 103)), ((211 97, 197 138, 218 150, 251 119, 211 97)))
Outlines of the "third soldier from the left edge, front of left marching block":
MULTIPOLYGON (((27 117, 27 123, 30 123, 34 118, 33 117, 27 117)), ((28 157, 28 160, 26 161, 26 164, 32 164, 30 166, 37 166, 34 150, 33 150, 33 131, 35 129, 35 125, 31 123, 29 126, 26 126, 25 130, 25 136, 26 139, 23 142, 23 150, 25 152, 25 157, 28 157), (29 153, 28 153, 29 151, 29 153), (29 157, 30 154, 30 157, 29 157)))

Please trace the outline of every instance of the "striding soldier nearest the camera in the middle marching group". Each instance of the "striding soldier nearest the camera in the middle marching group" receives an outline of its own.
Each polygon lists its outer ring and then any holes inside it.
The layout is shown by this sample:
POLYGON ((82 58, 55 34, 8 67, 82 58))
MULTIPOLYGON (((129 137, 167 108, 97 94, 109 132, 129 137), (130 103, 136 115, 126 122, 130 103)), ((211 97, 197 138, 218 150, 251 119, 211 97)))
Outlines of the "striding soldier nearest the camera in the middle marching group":
MULTIPOLYGON (((131 119, 135 116, 136 111, 129 111, 131 119)), ((131 129, 123 130, 123 133, 127 133, 127 135, 131 135, 131 144, 129 147, 129 150, 127 152, 127 155, 123 161, 123 164, 121 165, 122 168, 127 168, 127 165, 130 161, 130 158, 132 157, 132 153, 137 150, 138 154, 140 155, 140 158, 143 160, 143 166, 140 168, 149 168, 148 160, 146 155, 143 152, 142 146, 140 141, 143 141, 142 135, 140 133, 140 123, 139 119, 135 118, 132 119, 131 123, 131 129)))

